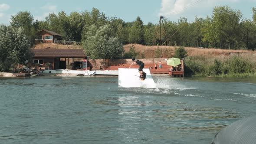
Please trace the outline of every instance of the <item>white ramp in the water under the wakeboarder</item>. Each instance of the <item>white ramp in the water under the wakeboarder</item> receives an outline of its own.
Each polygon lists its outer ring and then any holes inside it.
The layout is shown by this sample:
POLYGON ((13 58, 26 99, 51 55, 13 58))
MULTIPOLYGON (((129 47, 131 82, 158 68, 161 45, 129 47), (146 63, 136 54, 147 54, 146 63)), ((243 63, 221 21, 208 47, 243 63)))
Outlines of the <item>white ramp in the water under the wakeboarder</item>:
POLYGON ((145 80, 139 79, 138 69, 118 69, 118 85, 124 88, 156 88, 156 83, 152 79, 149 69, 143 69, 147 73, 145 80))

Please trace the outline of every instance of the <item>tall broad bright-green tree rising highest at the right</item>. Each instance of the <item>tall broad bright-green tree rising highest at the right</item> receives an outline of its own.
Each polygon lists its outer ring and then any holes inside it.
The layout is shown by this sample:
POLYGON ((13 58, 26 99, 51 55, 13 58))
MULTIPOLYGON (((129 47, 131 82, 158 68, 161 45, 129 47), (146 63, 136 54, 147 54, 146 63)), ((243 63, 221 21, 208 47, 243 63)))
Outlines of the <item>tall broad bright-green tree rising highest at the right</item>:
POLYGON ((214 43, 215 47, 235 49, 240 39, 240 10, 232 10, 230 7, 215 7, 213 9, 210 26, 205 31, 206 39, 214 43))

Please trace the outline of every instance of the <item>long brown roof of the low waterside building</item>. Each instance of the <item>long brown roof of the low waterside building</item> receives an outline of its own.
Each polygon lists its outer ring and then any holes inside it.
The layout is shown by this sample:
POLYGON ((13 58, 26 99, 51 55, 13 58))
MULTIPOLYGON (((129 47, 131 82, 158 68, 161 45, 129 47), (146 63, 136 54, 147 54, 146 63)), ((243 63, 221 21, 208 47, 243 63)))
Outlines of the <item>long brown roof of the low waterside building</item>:
POLYGON ((84 58, 83 49, 32 49, 33 58, 84 58))

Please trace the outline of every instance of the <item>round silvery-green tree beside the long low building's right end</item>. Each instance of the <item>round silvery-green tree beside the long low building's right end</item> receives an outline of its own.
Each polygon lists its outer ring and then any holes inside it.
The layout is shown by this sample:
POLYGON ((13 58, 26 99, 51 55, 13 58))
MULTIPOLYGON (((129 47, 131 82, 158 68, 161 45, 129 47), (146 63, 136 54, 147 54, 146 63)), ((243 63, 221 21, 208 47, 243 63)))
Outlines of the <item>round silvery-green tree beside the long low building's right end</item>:
POLYGON ((117 36, 111 36, 109 24, 97 28, 89 27, 89 31, 82 41, 85 54, 91 59, 115 59, 120 57, 123 47, 117 36))

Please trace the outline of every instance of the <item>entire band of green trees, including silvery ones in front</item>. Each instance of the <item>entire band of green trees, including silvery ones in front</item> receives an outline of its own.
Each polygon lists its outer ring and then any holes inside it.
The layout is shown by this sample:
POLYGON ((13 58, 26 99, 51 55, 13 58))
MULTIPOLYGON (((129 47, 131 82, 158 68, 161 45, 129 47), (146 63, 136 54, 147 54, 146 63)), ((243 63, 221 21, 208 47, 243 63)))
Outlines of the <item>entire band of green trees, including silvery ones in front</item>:
POLYGON ((50 13, 45 20, 35 20, 30 12, 20 11, 11 16, 10 26, 1 25, 0 53, 3 57, 0 67, 6 69, 6 63, 22 63, 24 59, 30 59, 28 53, 41 29, 59 33, 65 40, 82 42, 85 52, 98 59, 120 57, 123 51, 121 44, 151 46, 154 39, 168 40, 169 46, 255 50, 256 7, 252 7, 252 13, 252 20, 244 19, 240 10, 221 6, 213 8, 212 15, 206 18, 195 16, 193 22, 184 17, 177 22, 164 18, 166 37, 158 39, 156 34, 164 35, 164 31, 156 33, 158 24, 144 24, 139 16, 132 22, 125 22, 120 18, 107 17, 93 8, 92 11, 71 12, 69 15, 64 11, 50 13), (14 41, 17 43, 11 44, 14 41), (94 49, 98 47, 104 49, 100 55, 97 53, 99 50, 94 49))

